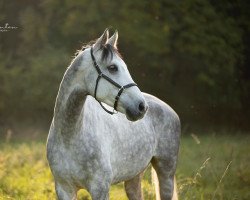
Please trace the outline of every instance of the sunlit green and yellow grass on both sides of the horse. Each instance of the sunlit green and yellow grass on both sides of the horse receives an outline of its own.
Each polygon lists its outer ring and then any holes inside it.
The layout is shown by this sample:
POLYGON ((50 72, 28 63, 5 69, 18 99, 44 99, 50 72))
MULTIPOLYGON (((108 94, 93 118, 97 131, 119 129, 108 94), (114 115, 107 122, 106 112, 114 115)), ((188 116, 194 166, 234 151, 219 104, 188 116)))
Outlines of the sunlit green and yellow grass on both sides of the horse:
MULTIPOLYGON (((45 156, 45 139, 7 138, 0 142, 0 200, 55 199, 54 182, 45 156)), ((185 134, 177 169, 180 199, 250 199, 250 136, 185 134)), ((143 192, 154 199, 150 169, 143 192)), ((111 200, 127 200, 123 184, 112 186, 111 200)), ((84 190, 78 199, 91 199, 84 190)))

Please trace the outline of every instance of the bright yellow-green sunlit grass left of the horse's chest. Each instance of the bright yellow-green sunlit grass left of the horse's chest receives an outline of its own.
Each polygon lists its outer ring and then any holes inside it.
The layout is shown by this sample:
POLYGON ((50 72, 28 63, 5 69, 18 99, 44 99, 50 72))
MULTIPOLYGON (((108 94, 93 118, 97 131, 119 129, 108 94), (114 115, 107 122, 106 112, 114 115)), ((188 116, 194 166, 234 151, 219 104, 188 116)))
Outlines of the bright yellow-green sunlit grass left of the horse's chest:
POLYGON ((44 143, 1 144, 0 199, 55 199, 44 143))

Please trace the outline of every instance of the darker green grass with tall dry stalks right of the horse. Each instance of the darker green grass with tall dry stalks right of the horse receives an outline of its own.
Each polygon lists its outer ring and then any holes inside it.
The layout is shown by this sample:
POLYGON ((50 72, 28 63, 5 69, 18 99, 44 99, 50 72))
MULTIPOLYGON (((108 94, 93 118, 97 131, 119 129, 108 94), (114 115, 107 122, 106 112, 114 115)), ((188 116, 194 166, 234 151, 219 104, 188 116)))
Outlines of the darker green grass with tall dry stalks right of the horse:
POLYGON ((185 135, 177 169, 180 199, 250 199, 249 142, 240 134, 185 135))

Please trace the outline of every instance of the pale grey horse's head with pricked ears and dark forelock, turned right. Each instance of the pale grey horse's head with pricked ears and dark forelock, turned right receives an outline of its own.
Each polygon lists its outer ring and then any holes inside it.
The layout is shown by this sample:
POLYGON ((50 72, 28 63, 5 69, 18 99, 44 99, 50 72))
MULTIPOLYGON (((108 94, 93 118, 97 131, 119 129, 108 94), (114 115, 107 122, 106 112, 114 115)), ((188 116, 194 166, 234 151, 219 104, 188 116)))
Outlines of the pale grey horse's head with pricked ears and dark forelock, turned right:
POLYGON ((130 121, 139 120, 148 106, 118 53, 118 32, 110 38, 108 35, 105 30, 93 46, 84 50, 83 62, 88 66, 84 70, 87 91, 97 101, 124 113, 130 121))

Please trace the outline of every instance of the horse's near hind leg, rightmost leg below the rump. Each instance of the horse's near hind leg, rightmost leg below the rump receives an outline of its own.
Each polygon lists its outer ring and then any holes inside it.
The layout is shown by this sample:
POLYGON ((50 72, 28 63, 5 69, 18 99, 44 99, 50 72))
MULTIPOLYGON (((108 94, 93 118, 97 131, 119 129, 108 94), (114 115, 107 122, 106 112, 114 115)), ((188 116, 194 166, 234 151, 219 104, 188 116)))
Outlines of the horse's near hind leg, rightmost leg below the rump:
POLYGON ((160 191, 158 192, 160 192, 160 199, 161 200, 174 199, 172 197, 174 192, 175 164, 172 165, 170 160, 162 160, 154 158, 152 160, 152 166, 156 171, 159 181, 160 191))

